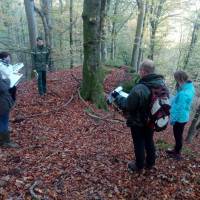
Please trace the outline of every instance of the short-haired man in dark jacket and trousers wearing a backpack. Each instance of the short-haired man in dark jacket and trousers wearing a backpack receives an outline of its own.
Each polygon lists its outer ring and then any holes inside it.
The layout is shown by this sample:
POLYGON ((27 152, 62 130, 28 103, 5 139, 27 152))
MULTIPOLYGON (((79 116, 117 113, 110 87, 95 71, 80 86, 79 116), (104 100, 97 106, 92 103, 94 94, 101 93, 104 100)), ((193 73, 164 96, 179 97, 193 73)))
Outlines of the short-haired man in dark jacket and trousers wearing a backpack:
POLYGON ((131 129, 136 161, 128 163, 131 172, 141 171, 144 167, 151 169, 155 165, 155 147, 153 129, 148 126, 150 113, 151 87, 164 85, 164 78, 154 73, 152 60, 145 60, 139 68, 140 80, 129 96, 124 98, 113 93, 116 104, 128 114, 127 126, 131 129), (146 152, 146 156, 145 156, 146 152))

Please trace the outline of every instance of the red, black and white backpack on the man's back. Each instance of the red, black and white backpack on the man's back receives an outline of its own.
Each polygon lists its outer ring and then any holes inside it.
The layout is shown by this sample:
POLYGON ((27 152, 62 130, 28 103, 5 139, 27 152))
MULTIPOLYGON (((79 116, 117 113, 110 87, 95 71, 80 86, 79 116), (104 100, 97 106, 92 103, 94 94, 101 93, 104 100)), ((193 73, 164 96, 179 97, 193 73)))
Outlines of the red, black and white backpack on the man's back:
POLYGON ((148 125, 156 132, 160 132, 165 130, 169 123, 171 108, 169 90, 165 85, 156 88, 147 87, 151 91, 148 125))

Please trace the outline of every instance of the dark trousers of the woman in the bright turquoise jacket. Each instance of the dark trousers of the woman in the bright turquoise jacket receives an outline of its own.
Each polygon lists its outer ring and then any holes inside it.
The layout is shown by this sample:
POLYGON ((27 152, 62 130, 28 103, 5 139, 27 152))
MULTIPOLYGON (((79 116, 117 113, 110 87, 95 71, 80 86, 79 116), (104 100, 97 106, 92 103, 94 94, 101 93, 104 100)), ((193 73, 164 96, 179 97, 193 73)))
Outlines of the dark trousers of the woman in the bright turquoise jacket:
POLYGON ((177 153, 181 152, 183 146, 183 131, 186 123, 176 122, 173 126, 174 138, 175 138, 175 147, 174 150, 177 153))

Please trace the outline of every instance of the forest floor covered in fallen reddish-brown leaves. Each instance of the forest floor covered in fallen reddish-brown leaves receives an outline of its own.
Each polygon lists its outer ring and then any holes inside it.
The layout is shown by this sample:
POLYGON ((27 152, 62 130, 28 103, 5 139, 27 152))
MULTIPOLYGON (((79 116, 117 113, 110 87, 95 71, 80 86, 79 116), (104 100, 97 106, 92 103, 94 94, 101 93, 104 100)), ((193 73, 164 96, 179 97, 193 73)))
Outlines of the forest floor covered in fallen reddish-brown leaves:
MULTIPOLYGON (((42 98, 35 80, 19 85, 10 125, 20 148, 0 148, 0 199, 200 199, 200 137, 176 161, 165 154, 171 128, 156 133, 156 168, 130 174, 130 130, 112 107, 102 111, 80 98, 81 76, 80 68, 49 73, 42 98)), ((105 92, 125 78, 124 67, 112 69, 105 92)))

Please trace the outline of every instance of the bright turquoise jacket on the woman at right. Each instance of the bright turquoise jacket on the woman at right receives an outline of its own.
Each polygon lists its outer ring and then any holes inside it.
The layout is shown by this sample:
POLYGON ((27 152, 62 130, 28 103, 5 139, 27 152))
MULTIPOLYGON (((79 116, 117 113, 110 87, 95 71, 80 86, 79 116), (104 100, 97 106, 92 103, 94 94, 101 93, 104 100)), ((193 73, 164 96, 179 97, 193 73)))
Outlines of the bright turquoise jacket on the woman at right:
POLYGON ((184 123, 189 121, 194 95, 195 89, 191 81, 186 82, 178 88, 177 93, 172 100, 170 110, 171 125, 174 125, 175 122, 184 123))

